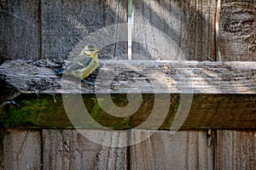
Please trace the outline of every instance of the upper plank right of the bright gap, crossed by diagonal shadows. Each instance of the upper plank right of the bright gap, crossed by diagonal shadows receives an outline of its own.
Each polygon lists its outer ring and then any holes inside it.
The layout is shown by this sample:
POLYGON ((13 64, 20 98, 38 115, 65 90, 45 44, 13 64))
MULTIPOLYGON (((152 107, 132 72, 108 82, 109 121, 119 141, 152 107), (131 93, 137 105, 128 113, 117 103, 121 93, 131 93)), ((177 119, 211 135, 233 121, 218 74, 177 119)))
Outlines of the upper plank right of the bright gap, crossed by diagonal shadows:
POLYGON ((215 0, 134 0, 132 59, 212 59, 215 8, 215 0))

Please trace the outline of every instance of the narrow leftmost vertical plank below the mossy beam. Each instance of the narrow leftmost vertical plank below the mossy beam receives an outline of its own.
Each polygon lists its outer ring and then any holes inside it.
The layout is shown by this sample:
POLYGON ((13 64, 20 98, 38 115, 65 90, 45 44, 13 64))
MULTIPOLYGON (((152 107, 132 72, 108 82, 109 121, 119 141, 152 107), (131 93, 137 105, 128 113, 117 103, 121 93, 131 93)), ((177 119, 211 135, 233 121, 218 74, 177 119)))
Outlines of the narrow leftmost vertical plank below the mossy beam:
POLYGON ((41 169, 39 131, 9 129, 3 132, 3 169, 41 169))

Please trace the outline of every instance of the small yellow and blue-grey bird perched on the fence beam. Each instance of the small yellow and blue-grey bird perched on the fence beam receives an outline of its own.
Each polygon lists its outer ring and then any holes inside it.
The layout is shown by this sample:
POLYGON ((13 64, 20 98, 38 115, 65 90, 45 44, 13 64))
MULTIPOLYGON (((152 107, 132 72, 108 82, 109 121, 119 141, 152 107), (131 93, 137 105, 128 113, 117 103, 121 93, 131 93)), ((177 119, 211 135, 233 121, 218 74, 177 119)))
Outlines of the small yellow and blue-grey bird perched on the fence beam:
POLYGON ((77 77, 86 84, 95 85, 84 80, 84 78, 95 71, 99 65, 98 53, 99 50, 96 47, 92 45, 85 46, 81 53, 65 69, 55 70, 55 73, 57 75, 65 74, 77 77))

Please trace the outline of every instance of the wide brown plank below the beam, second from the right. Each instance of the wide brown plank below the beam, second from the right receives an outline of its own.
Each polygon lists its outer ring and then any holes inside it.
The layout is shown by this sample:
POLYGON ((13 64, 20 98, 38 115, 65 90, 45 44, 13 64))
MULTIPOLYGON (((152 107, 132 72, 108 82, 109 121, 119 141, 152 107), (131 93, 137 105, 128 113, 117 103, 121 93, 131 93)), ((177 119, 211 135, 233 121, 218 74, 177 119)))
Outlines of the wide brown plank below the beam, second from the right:
MULTIPOLYGON (((139 141, 149 133, 133 131, 131 139, 139 141)), ((131 169, 213 169, 213 141, 207 145, 207 131, 158 131, 131 146, 131 169)))

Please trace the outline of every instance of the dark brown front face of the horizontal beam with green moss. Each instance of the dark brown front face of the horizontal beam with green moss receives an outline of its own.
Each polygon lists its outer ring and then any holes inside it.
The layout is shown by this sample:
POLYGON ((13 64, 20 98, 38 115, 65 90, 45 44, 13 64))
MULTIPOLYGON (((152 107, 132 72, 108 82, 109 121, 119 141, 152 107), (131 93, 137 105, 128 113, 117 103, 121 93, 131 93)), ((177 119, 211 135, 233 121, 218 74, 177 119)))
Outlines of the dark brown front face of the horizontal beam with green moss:
MULTIPOLYGON (((134 95, 137 99, 141 97, 141 94, 134 95)), ((96 98, 95 94, 65 94, 62 98, 61 94, 21 94, 15 99, 16 105, 0 108, 0 125, 7 128, 137 127, 170 130, 175 123, 177 125, 175 117, 183 117, 181 129, 256 128, 255 94, 194 94, 191 105, 191 100, 185 99, 189 98, 185 94, 142 94, 142 98, 138 104, 137 100, 129 102, 139 107, 127 116, 114 112, 125 112, 124 107, 128 104, 125 94, 112 94, 111 101, 96 98), (79 97, 84 103, 79 103, 79 97), (67 102, 67 99, 72 100, 67 102), (99 104, 100 101, 107 101, 108 104, 113 102, 116 106, 112 107, 113 110, 106 110, 99 104), (143 126, 144 122, 149 124, 143 126)))

